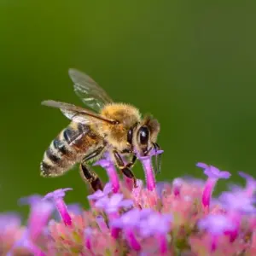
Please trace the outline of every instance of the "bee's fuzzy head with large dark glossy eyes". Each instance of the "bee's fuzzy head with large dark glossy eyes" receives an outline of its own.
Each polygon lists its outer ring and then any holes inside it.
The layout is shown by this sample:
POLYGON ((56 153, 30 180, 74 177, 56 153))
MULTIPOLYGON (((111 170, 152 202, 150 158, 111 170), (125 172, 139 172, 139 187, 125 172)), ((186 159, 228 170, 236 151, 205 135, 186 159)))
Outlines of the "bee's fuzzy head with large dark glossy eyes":
POLYGON ((127 141, 131 143, 136 154, 145 156, 152 148, 159 149, 156 143, 159 131, 160 124, 157 119, 146 117, 142 122, 131 127, 127 134, 127 141))

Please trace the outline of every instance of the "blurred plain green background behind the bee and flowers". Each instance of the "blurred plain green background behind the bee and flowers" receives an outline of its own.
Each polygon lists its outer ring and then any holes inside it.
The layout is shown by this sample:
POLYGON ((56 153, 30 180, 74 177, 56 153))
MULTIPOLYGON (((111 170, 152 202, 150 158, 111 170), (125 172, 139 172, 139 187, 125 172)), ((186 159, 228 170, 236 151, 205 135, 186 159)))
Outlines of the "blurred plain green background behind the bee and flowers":
POLYGON ((2 0, 0 210, 66 187, 67 201, 86 202, 78 168, 39 176, 44 150, 68 124, 40 102, 82 105, 69 67, 160 120, 158 179, 203 177, 197 161, 229 170, 234 182, 236 171, 255 173, 255 22, 253 1, 2 0))

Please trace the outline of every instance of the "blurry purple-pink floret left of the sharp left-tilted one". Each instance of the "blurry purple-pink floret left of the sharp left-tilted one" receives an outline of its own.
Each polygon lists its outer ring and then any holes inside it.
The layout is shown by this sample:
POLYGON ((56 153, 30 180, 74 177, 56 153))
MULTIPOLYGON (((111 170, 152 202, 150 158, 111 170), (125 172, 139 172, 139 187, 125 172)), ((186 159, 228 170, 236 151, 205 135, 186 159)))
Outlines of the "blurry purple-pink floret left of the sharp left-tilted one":
POLYGON ((42 201, 41 195, 30 195, 20 198, 20 204, 30 205, 30 215, 28 218, 28 234, 32 241, 36 241, 47 225, 50 215, 53 212, 53 204, 42 201))

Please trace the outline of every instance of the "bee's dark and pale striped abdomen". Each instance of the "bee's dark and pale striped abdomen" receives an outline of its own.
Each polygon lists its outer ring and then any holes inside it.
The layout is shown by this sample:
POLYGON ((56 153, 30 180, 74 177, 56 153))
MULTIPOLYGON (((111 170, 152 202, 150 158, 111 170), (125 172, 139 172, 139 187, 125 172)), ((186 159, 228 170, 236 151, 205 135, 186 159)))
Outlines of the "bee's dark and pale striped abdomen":
POLYGON ((92 148, 101 144, 102 137, 91 131, 88 125, 71 123, 61 131, 45 151, 41 162, 41 175, 60 176, 81 161, 92 148))

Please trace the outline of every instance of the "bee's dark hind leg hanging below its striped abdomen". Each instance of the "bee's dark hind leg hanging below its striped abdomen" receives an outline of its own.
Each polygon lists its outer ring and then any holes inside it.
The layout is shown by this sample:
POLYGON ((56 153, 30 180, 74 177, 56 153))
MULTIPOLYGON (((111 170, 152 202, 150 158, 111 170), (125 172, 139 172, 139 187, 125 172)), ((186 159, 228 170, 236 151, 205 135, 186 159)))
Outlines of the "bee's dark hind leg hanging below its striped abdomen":
POLYGON ((102 182, 96 172, 92 171, 89 166, 87 165, 87 162, 93 158, 95 158, 97 155, 102 153, 102 150, 105 147, 97 148, 95 151, 93 151, 90 154, 87 154, 84 156, 84 159, 82 160, 79 168, 79 173, 82 177, 82 179, 85 181, 85 183, 90 183, 91 188, 96 191, 98 189, 103 190, 102 182))

